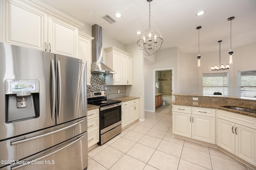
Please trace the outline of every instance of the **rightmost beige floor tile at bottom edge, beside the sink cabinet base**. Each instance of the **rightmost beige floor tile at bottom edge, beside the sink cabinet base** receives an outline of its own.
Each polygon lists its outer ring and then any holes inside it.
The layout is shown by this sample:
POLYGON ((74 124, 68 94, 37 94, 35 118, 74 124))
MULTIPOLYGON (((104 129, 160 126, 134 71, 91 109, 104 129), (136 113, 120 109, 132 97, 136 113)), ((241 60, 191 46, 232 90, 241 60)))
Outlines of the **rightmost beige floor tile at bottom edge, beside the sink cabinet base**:
POLYGON ((211 155, 212 170, 247 170, 244 164, 211 155))

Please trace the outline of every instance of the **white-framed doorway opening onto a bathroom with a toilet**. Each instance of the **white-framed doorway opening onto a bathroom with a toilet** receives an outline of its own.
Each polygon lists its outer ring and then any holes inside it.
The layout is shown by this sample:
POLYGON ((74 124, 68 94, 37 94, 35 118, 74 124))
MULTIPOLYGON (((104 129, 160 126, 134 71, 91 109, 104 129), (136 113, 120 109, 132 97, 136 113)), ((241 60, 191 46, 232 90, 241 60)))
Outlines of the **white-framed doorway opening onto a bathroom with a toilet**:
MULTIPOLYGON (((153 84, 154 84, 154 90, 153 90, 153 102, 155 104, 156 99, 155 95, 156 93, 161 93, 162 98, 164 99, 163 102, 165 104, 170 104, 172 102, 172 93, 173 93, 173 75, 174 70, 173 68, 160 68, 160 69, 154 69, 153 70, 154 78, 153 78, 153 84)), ((156 111, 156 107, 154 105, 154 112, 156 111)))

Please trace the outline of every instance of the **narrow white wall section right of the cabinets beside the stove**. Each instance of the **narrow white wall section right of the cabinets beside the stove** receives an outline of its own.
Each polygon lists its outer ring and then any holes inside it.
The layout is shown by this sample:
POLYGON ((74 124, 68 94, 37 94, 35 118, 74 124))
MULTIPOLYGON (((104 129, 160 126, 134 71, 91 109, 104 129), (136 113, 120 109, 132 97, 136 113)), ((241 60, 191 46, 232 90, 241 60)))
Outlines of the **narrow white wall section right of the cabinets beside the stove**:
POLYGON ((125 46, 132 57, 132 86, 126 86, 126 96, 140 97, 140 121, 144 121, 144 57, 137 43, 125 46), (141 91, 141 93, 139 92, 141 91))

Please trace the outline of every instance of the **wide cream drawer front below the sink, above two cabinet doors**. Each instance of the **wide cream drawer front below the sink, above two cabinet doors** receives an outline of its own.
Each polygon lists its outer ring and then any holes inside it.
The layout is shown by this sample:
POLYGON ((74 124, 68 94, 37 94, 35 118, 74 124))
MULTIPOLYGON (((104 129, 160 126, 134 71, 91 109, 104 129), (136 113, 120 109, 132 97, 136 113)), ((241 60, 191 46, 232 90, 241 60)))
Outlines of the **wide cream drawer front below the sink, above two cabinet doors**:
POLYGON ((254 117, 218 110, 218 118, 256 129, 256 118, 254 117))

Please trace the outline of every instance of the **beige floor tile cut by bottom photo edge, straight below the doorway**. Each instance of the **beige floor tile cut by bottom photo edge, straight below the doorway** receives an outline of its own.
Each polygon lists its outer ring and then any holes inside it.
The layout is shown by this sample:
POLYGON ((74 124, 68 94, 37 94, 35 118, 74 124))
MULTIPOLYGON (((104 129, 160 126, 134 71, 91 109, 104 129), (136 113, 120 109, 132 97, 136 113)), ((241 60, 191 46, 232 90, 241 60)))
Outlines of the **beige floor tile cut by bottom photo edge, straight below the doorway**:
POLYGON ((177 170, 179 158, 156 150, 148 164, 160 170, 177 170))

